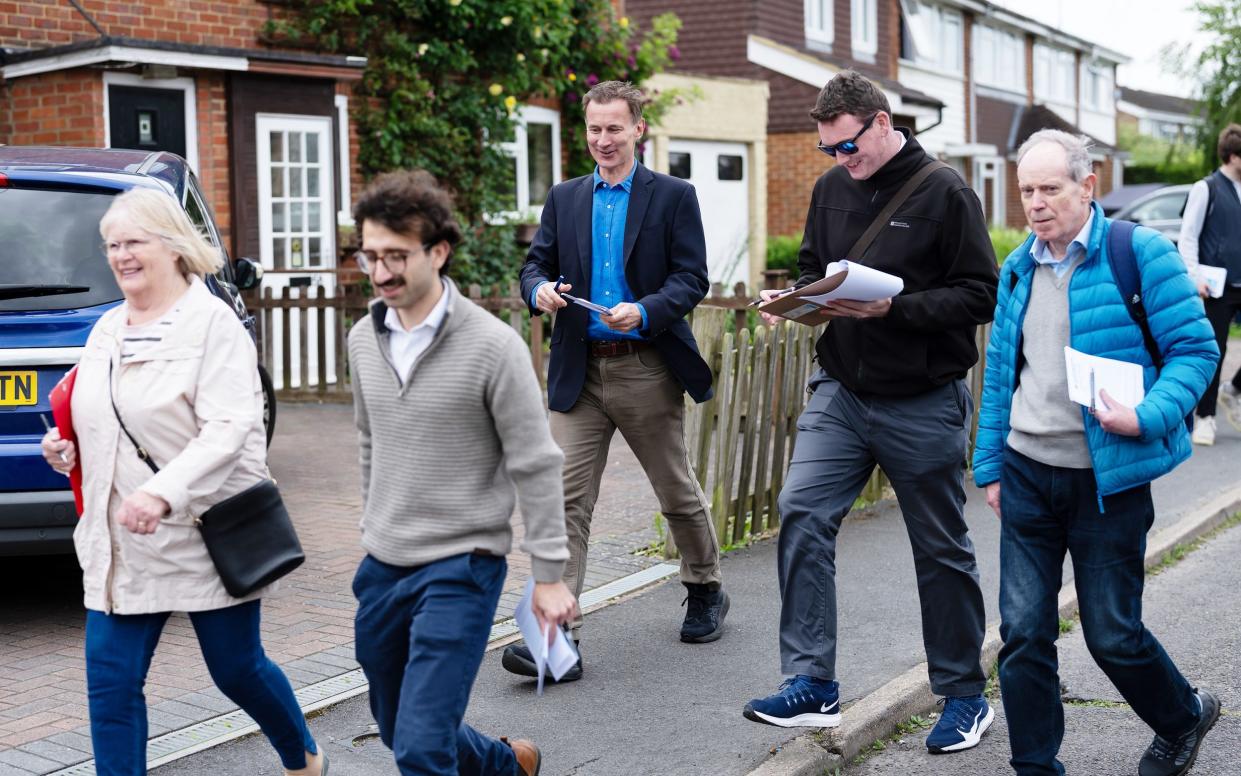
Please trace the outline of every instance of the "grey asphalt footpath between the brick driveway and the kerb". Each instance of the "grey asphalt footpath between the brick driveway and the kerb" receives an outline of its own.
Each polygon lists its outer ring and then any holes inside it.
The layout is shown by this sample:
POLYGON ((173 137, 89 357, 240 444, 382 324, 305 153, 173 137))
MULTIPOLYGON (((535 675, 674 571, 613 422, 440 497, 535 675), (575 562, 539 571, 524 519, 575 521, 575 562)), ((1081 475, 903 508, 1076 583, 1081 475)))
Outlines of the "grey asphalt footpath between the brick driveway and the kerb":
MULTIPOLYGON (((1216 447, 1155 485, 1158 528, 1234 487, 1241 435, 1222 430, 1216 447)), ((995 620, 998 524, 982 492, 968 489, 967 520, 978 546, 989 620, 995 620)), ((669 581, 587 617, 586 677, 551 687, 506 674, 499 654, 484 661, 468 721, 495 735, 532 738, 545 751, 544 775, 742 775, 804 730, 757 725, 742 704, 781 680, 776 643, 778 595, 774 543, 730 554, 725 585, 732 595, 728 629, 715 644, 676 639, 683 598, 669 581)), ((843 698, 856 700, 923 659, 908 540, 892 504, 851 517, 838 557, 843 698)), ((1066 580, 1071 569, 1066 570, 1066 580)), ((846 711, 848 714, 848 711, 846 711)), ((334 706, 311 721, 333 756, 333 774, 391 774, 391 755, 367 738, 365 698, 334 706)), ((917 739, 921 741, 921 739, 917 739)), ((258 736, 164 766, 161 776, 249 774, 272 757, 258 736)), ((961 760, 957 761, 963 762, 961 760)), ((1004 772, 1004 767, 977 774, 1004 772)), ((892 772, 918 772, 896 770, 892 772)))

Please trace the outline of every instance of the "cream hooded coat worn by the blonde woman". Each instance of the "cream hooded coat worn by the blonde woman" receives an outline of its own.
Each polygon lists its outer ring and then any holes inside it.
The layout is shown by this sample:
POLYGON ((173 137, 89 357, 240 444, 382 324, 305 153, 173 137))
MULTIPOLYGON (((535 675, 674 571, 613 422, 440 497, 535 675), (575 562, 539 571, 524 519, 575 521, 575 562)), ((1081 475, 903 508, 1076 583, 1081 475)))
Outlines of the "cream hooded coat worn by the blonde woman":
POLYGON ((195 519, 268 477, 263 399, 254 344, 233 310, 199 278, 174 305, 163 340, 120 366, 128 304, 105 313, 87 340, 73 389, 84 513, 73 533, 87 608, 122 615, 205 611, 233 598, 220 581, 195 519), (158 474, 120 431, 120 417, 158 474), (153 534, 117 521, 134 490, 171 505, 153 534))

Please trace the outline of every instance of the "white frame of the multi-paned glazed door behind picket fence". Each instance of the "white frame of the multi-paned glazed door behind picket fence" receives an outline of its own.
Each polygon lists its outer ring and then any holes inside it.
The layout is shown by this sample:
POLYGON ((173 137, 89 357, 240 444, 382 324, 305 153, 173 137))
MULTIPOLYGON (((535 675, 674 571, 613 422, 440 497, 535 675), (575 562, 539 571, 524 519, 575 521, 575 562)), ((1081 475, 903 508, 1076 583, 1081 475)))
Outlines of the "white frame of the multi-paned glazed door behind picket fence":
MULTIPOLYGON (((288 113, 258 113, 254 115, 254 158, 258 170, 258 253, 259 261, 266 269, 273 269, 276 257, 272 252, 272 145, 269 132, 278 129, 282 132, 319 132, 319 168, 323 170, 324 180, 319 187, 324 202, 319 207, 323 220, 323 230, 318 233, 320 238, 320 263, 311 267, 309 261, 303 264, 303 269, 333 269, 336 266, 336 225, 333 220, 330 197, 335 192, 333 170, 333 134, 331 117, 328 115, 297 115, 288 113)), ((309 241, 310 230, 304 231, 309 241)), ((309 251, 309 246, 307 247, 309 251)), ((295 269, 289 266, 292 257, 285 257, 285 269, 295 269)))

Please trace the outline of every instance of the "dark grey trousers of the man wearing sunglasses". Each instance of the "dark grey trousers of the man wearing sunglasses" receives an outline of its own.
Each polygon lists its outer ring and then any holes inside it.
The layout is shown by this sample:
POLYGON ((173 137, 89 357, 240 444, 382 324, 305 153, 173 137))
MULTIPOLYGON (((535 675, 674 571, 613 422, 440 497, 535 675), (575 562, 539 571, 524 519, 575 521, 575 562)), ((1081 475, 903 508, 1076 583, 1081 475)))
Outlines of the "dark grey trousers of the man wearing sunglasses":
POLYGON ((985 615, 963 515, 963 381, 907 397, 860 397, 818 371, 779 494, 781 668, 836 678, 836 533, 877 463, 913 545, 931 688, 974 695, 985 615))

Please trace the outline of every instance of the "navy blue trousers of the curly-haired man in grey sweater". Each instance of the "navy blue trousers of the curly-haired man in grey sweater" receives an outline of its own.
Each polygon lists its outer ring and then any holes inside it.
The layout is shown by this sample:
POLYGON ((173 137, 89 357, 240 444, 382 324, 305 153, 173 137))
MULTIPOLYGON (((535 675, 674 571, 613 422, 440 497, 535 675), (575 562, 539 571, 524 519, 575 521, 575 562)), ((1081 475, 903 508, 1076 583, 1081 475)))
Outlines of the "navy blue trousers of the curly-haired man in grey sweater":
POLYGON ((367 555, 357 567, 357 662, 402 775, 517 774, 511 749, 462 721, 506 571, 484 555, 410 567, 367 555))

